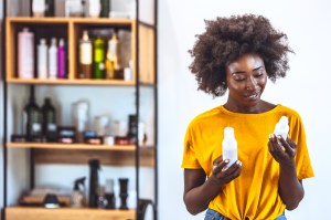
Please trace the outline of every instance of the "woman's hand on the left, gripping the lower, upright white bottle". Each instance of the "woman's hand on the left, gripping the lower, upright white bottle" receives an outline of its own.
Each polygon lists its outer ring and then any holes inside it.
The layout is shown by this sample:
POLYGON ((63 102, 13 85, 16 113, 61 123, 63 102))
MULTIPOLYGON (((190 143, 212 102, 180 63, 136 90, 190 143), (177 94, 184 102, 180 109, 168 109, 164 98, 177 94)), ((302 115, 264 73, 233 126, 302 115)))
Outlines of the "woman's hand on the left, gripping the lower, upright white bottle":
POLYGON ((225 185, 231 182, 242 174, 242 161, 235 161, 231 167, 226 168, 228 159, 223 160, 223 157, 220 156, 213 161, 213 170, 210 179, 216 185, 225 185))

